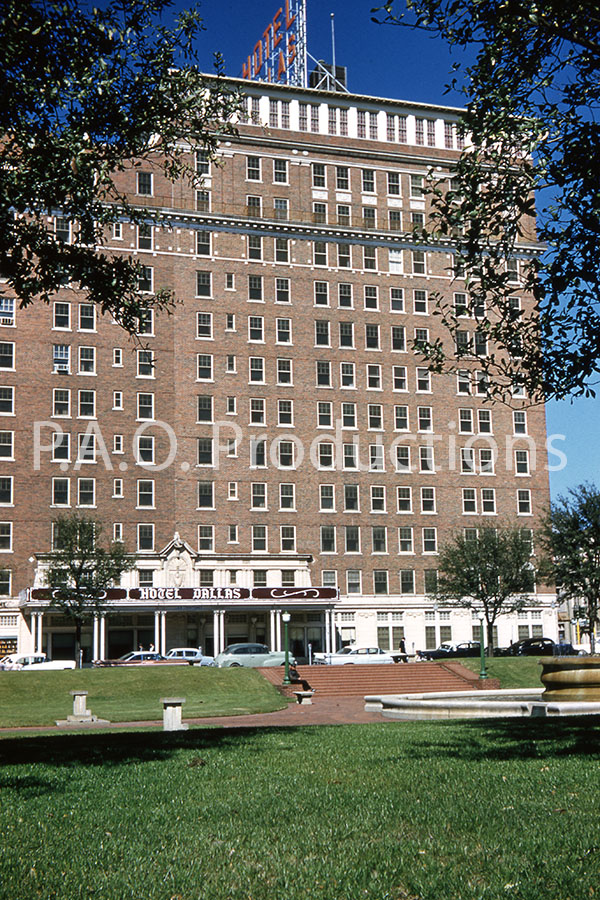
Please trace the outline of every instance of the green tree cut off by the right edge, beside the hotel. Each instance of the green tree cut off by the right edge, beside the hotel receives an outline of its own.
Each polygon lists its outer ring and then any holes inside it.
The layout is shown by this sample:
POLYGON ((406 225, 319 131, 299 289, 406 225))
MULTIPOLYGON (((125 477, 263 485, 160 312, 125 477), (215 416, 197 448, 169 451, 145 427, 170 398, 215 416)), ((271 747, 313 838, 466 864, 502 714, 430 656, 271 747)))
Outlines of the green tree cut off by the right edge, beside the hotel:
POLYGON ((547 566, 563 600, 582 609, 595 649, 595 629, 600 611, 600 491, 580 484, 553 503, 542 531, 548 554, 547 566))

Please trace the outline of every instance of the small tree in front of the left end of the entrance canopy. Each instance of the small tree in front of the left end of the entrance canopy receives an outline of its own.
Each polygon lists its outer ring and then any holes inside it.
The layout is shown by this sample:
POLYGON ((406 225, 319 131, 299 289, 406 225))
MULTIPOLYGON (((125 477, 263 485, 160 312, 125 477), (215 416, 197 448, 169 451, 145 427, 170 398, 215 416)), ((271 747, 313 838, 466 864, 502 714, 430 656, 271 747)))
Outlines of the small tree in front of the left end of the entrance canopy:
POLYGON ((103 608, 107 588, 133 568, 120 541, 108 547, 100 543, 102 525, 77 514, 60 516, 54 524, 54 549, 48 555, 46 583, 52 590, 52 605, 75 625, 75 654, 79 664, 81 629, 103 608))

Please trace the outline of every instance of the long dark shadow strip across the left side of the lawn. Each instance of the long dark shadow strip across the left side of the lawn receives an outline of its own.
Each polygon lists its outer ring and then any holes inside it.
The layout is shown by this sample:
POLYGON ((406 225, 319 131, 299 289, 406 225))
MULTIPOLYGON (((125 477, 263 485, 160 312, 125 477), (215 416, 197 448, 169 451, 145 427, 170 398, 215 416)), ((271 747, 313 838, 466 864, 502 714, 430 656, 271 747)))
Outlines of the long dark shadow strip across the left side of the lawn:
MULTIPOLYGON (((297 728, 196 728, 180 732, 98 732, 87 734, 44 734, 36 737, 11 738, 0 742, 0 765, 47 763, 54 766, 118 766, 133 762, 168 759, 179 750, 201 752, 208 749, 239 749, 256 735, 276 731, 289 732, 289 747, 295 749, 293 735, 297 728)), ((260 752, 256 744, 252 753, 260 752)), ((1 785, 1 782, 0 782, 1 785)))

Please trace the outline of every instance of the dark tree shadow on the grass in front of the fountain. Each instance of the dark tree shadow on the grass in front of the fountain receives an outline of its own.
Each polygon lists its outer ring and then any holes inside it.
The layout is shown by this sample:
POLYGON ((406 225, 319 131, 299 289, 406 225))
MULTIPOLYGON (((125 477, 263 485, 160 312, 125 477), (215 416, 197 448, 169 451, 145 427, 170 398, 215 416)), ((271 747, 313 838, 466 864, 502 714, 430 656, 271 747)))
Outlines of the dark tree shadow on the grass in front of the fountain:
POLYGON ((422 759, 435 755, 472 761, 600 757, 600 716, 486 719, 444 725, 447 730, 436 735, 438 740, 430 740, 432 735, 427 734, 424 741, 412 745, 411 754, 422 759))

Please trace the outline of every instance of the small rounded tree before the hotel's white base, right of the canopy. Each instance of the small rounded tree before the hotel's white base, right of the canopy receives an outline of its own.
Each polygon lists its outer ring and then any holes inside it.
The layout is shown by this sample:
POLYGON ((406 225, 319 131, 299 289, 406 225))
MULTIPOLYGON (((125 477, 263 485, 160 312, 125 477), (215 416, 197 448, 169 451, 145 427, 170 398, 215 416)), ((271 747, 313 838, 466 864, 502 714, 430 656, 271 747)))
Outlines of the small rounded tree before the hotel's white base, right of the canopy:
POLYGON ((482 614, 489 655, 498 616, 522 609, 534 590, 531 551, 529 532, 491 526, 457 533, 440 551, 432 599, 482 614))

